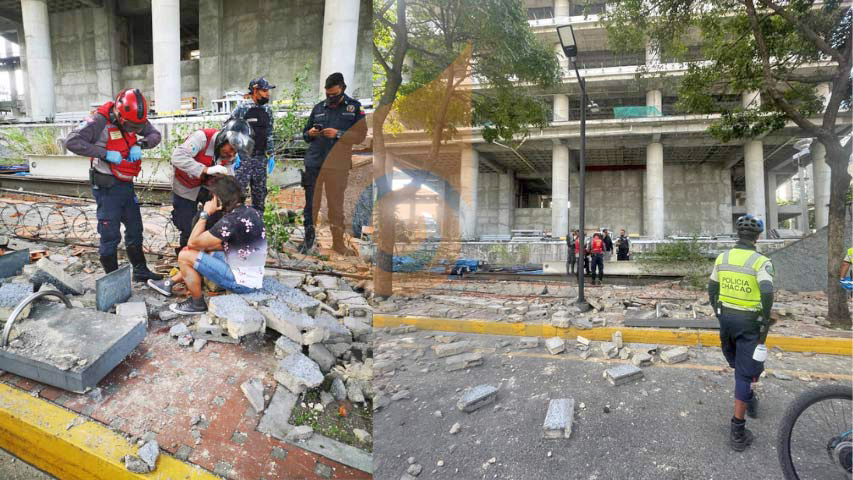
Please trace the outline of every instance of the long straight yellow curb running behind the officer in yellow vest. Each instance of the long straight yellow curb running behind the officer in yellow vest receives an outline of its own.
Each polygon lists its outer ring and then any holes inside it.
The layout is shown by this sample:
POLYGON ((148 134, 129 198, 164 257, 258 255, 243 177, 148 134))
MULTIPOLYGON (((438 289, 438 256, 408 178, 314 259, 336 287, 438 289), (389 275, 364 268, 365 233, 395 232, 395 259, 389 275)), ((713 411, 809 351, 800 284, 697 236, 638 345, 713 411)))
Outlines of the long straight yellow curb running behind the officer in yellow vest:
MULTIPOLYGON (((578 335, 590 340, 610 341, 613 332, 622 332, 622 340, 629 343, 659 343, 664 345, 688 345, 719 347, 720 334, 699 330, 663 330, 637 327, 596 327, 579 329, 561 328, 543 324, 500 323, 486 320, 454 320, 449 318, 412 317, 397 315, 373 315, 373 326, 399 327, 412 325, 419 330, 442 332, 479 333, 485 335, 517 335, 521 337, 563 337, 578 335)), ((832 337, 789 337, 768 335, 768 347, 779 347, 788 352, 815 352, 833 355, 853 355, 853 339, 832 337)))

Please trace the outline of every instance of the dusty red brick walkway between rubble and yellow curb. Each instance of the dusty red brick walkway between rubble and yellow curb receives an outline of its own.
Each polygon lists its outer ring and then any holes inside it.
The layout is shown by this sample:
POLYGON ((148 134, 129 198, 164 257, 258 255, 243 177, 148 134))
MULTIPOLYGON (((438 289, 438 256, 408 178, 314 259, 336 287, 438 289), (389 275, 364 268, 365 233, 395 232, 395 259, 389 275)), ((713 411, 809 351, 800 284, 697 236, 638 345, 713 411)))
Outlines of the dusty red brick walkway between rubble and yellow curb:
POLYGON ((338 464, 256 431, 261 415, 240 384, 263 379, 265 395, 275 388, 272 342, 260 351, 208 342, 201 352, 179 347, 168 327, 151 322, 148 337, 100 383, 103 399, 64 392, 6 373, 0 381, 84 414, 129 436, 155 432, 160 447, 229 479, 369 479, 338 464), (196 445, 191 418, 198 424, 196 445))

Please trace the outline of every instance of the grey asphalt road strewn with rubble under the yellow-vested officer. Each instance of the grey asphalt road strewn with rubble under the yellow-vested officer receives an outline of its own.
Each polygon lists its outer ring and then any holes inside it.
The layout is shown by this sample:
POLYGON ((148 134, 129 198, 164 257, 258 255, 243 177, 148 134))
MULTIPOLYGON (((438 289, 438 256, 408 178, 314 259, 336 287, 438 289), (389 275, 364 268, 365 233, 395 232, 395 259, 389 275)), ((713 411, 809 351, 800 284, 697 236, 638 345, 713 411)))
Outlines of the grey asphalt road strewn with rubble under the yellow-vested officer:
POLYGON ((597 351, 582 360, 573 342, 551 357, 542 346, 519 349, 517 337, 464 335, 489 352, 485 363, 447 373, 429 349, 435 342, 428 335, 380 334, 375 344, 377 357, 398 357, 399 367, 393 375, 377 375, 374 384, 389 396, 410 391, 408 399, 391 402, 374 417, 377 480, 400 479, 410 457, 423 466, 419 480, 780 479, 774 443, 784 409, 798 393, 831 381, 821 373, 851 381, 849 357, 771 355, 767 368, 786 370, 794 379, 761 380, 760 418, 748 421, 757 438, 736 453, 728 446, 734 380, 721 371, 719 349, 691 349, 687 362, 655 363, 643 369, 644 380, 614 387, 602 373, 616 363, 597 351), (504 339, 511 345, 495 349, 504 339), (809 381, 798 378, 805 372, 812 372, 809 381), (459 411, 455 405, 463 390, 479 384, 499 386, 495 405, 459 411), (575 399, 569 439, 542 438, 552 398, 575 399), (581 403, 584 408, 578 408, 581 403), (451 435, 455 422, 462 428, 451 435))

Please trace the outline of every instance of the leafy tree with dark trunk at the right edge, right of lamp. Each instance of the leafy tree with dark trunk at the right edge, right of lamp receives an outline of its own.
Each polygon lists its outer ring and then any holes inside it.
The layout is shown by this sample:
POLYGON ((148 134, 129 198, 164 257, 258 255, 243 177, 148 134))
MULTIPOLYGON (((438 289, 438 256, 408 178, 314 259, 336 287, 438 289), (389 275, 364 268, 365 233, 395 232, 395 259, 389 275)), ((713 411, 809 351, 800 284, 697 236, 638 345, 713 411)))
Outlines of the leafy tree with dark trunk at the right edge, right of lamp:
MULTIPOLYGON (((678 85, 688 113, 722 112, 709 132, 723 142, 778 130, 788 122, 826 147, 829 205, 829 320, 850 328, 838 271, 844 257, 847 168, 853 141, 837 125, 851 102, 850 7, 838 0, 618 0, 605 23, 617 50, 655 45, 664 57, 687 60, 685 39, 701 37, 704 61, 688 61, 678 85), (823 98, 818 87, 829 85, 823 98), (720 94, 758 91, 757 108, 728 108, 720 94)), ((651 69, 650 69, 651 70, 651 69)), ((653 72, 642 72, 648 77, 653 72)))

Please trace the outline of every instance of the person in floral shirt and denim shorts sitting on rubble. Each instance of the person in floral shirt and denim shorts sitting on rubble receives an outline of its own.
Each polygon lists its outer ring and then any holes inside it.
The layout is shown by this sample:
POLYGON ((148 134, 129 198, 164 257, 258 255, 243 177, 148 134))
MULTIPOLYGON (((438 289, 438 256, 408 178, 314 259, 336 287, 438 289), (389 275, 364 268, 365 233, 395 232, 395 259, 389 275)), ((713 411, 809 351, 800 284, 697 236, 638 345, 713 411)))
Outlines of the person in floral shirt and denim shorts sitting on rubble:
POLYGON ((217 176, 208 188, 213 198, 204 204, 186 248, 178 254, 180 272, 148 282, 167 297, 172 296, 176 283, 186 285, 189 297, 169 305, 180 315, 207 311, 202 277, 238 294, 254 292, 263 285, 267 241, 261 214, 243 204, 245 196, 234 177, 217 176), (210 216, 219 211, 224 213, 222 219, 208 227, 210 216))

